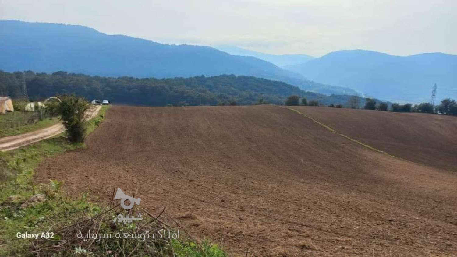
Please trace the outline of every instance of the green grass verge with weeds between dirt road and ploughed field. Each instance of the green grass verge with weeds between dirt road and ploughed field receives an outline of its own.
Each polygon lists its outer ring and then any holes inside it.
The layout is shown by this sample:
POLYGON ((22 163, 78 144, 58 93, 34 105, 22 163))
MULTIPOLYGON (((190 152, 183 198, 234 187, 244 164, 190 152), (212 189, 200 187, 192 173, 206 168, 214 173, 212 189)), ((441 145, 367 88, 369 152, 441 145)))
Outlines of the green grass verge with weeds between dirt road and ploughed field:
MULTIPOLYGON (((101 124, 107 108, 104 106, 96 118, 88 121, 88 133, 101 124)), ((198 243, 190 238, 145 241, 113 238, 98 242, 77 238, 78 229, 83 233, 96 229, 99 234, 116 231, 138 234, 163 226, 152 216, 145 218, 141 226, 113 223, 112 218, 121 210, 112 208, 106 212, 106 207, 88 201, 85 194, 80 199, 68 199, 60 193, 59 181, 34 183, 33 171, 45 158, 80 147, 84 144, 71 144, 60 135, 0 152, 0 256, 227 256, 216 244, 198 243), (40 238, 17 237, 18 233, 26 232, 37 233, 40 238), (53 233, 52 238, 41 237, 49 233, 53 233)))

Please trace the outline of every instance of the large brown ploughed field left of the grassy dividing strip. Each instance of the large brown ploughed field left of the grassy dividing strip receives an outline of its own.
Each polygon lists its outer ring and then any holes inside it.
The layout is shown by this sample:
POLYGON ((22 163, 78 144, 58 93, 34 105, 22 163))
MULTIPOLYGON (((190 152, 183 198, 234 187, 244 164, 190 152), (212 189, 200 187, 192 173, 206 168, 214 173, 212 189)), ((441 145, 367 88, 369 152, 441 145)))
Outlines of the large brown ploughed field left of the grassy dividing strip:
MULTIPOLYGON (((455 256, 457 177, 274 106, 117 107, 37 180, 166 206, 235 255, 455 256), (84 181, 84 183, 82 183, 84 181)), ((158 213, 158 210, 155 211, 158 213)))

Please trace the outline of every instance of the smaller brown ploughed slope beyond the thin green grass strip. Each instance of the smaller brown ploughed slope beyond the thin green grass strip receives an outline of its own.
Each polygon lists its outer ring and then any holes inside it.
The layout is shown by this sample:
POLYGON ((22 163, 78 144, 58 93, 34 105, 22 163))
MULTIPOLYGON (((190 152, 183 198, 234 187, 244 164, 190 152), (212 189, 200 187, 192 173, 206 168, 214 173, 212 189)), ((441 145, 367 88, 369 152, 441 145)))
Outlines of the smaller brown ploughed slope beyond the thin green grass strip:
POLYGON ((311 106, 293 109, 392 155, 457 172, 457 117, 311 106))

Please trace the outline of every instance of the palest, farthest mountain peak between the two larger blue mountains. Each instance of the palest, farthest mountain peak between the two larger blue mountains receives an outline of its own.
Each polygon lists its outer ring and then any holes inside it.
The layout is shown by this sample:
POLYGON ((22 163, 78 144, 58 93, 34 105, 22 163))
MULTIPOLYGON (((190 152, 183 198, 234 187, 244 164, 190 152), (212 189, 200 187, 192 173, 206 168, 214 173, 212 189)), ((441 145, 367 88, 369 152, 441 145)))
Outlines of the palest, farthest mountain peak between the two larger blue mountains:
POLYGON ((219 45, 216 48, 233 55, 256 57, 273 63, 278 67, 305 63, 314 58, 307 54, 268 54, 229 45, 219 45))

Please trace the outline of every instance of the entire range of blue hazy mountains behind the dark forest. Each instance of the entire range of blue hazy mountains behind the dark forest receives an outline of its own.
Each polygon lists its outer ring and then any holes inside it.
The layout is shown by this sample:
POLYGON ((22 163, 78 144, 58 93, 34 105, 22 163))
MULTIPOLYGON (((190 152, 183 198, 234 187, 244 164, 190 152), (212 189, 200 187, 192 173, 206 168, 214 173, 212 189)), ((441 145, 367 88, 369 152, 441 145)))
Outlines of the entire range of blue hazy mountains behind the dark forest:
POLYGON ((8 72, 62 70, 158 79, 235 74, 327 95, 358 93, 413 103, 429 101, 436 83, 437 100, 457 99, 457 56, 444 53, 400 57, 352 50, 313 58, 218 47, 227 53, 213 47, 106 35, 84 26, 23 21, 0 21, 0 42, 0 69, 8 72))

